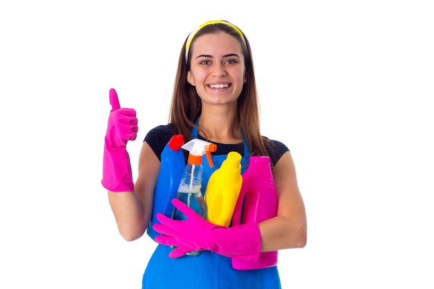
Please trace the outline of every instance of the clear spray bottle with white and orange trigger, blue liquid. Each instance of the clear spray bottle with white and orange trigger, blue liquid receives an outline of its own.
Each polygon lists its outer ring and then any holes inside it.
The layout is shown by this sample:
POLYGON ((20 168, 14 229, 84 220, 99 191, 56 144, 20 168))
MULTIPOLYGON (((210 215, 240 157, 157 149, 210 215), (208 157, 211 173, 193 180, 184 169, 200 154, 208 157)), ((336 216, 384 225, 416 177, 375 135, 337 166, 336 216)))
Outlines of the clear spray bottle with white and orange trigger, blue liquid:
MULTIPOLYGON (((206 219, 207 204, 200 192, 203 172, 202 156, 207 155, 209 166, 212 168, 211 152, 215 152, 217 146, 214 143, 202 141, 201 139, 192 139, 188 143, 185 143, 182 148, 189 151, 189 158, 177 190, 176 198, 206 219)), ((178 211, 176 208, 173 208, 172 218, 174 220, 186 220, 184 213, 178 211)), ((194 256, 199 253, 191 252, 188 255, 194 256)))

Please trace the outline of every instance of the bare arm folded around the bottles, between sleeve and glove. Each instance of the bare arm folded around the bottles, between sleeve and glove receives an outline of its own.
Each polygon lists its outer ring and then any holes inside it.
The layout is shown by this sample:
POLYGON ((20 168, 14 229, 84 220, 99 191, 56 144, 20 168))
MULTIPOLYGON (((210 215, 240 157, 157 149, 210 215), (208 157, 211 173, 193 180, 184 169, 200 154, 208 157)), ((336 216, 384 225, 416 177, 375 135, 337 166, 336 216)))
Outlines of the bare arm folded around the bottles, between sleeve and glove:
POLYGON ((259 224, 261 252, 302 248, 307 240, 306 210, 290 152, 277 161, 273 175, 279 200, 277 217, 259 224))

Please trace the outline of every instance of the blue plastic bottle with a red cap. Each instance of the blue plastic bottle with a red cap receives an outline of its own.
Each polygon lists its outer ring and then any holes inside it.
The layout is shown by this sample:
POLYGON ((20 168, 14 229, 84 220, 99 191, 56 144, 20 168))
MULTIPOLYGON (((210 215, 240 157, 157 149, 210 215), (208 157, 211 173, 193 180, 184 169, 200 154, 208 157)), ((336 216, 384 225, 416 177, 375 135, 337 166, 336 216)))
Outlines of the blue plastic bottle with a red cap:
POLYGON ((153 225, 158 222, 156 218, 157 213, 171 216, 173 211, 171 201, 176 197, 177 189, 185 170, 184 152, 181 150, 181 146, 184 143, 184 136, 182 134, 175 134, 162 151, 161 166, 159 167, 157 184, 155 184, 153 215, 146 230, 150 238, 154 240, 159 235, 153 229, 153 225))

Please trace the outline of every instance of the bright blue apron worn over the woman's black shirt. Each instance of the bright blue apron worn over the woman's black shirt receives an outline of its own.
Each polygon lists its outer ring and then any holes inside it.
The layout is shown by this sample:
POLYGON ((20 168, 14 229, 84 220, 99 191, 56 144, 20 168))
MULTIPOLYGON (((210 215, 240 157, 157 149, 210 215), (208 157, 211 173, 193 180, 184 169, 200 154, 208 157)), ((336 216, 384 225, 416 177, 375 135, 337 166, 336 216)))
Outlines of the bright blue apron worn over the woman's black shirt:
MULTIPOLYGON (((196 120, 196 125, 198 120, 196 120)), ((198 130, 191 130, 193 138, 198 130)), ((244 139, 244 136, 243 136, 244 139)), ((250 150, 246 141, 241 159, 241 173, 248 167, 250 150)), ((206 157, 202 161, 202 195, 209 177, 220 168, 227 155, 211 155, 214 168, 210 168, 206 157)), ((170 259, 171 247, 158 245, 144 272, 143 289, 281 289, 277 266, 260 270, 234 270, 231 259, 219 254, 202 251, 198 256, 182 256, 170 259)))

